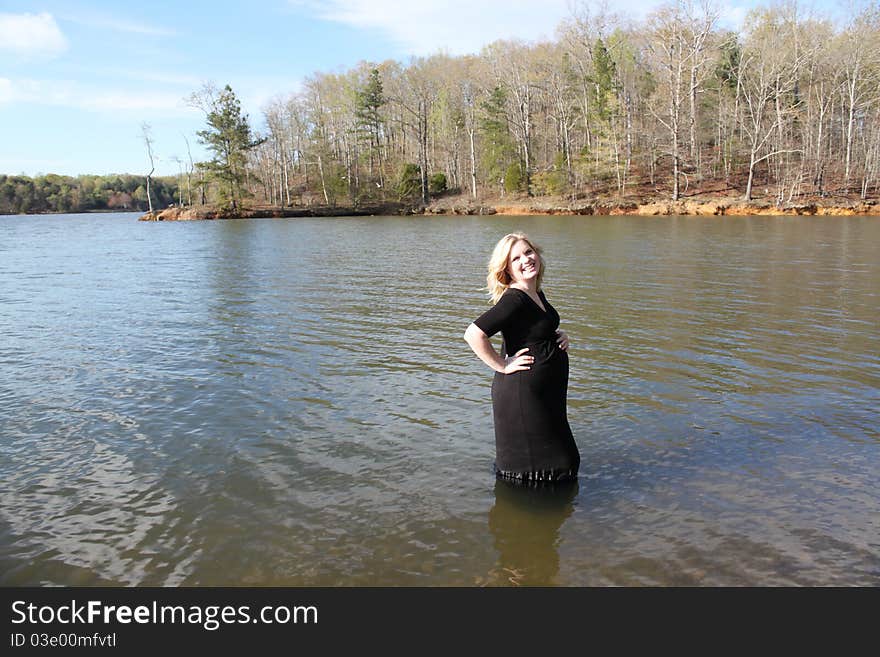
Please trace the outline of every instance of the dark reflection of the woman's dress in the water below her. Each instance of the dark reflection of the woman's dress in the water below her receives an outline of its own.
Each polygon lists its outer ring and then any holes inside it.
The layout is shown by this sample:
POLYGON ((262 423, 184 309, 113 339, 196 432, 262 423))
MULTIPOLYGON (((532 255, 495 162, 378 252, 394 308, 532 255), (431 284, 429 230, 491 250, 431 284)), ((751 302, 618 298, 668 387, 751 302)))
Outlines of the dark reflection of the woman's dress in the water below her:
POLYGON ((498 562, 489 573, 488 584, 559 583, 559 530, 574 510, 578 486, 577 479, 538 486, 496 480, 489 531, 498 562))

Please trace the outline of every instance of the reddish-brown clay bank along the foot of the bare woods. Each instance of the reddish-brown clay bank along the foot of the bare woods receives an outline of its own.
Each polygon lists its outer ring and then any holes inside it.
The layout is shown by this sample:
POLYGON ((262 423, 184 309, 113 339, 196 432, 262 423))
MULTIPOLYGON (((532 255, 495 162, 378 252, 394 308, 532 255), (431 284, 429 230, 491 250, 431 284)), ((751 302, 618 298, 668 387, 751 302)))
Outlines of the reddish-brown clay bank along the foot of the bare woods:
POLYGON ((440 198, 427 206, 406 203, 375 203, 358 206, 248 206, 237 212, 226 212, 212 206, 169 207, 146 213, 140 221, 201 221, 212 219, 243 219, 261 217, 334 217, 378 215, 806 215, 853 216, 880 215, 880 205, 874 200, 808 199, 778 206, 767 200, 744 201, 730 196, 702 195, 679 201, 663 199, 639 200, 578 200, 559 198, 510 197, 473 199, 455 196, 440 198))

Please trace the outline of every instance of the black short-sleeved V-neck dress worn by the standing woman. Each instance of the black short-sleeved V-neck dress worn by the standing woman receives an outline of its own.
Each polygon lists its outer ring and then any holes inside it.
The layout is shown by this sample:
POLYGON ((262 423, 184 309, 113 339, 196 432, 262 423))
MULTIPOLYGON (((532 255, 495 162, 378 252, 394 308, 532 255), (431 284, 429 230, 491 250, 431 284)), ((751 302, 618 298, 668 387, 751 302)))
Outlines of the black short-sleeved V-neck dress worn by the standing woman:
POLYGON ((546 310, 528 294, 508 288, 474 321, 486 335, 501 331, 502 354, 524 347, 534 356, 528 370, 495 373, 495 472, 524 481, 558 481, 577 476, 580 454, 568 425, 568 354, 556 344, 559 313, 543 292, 546 310))

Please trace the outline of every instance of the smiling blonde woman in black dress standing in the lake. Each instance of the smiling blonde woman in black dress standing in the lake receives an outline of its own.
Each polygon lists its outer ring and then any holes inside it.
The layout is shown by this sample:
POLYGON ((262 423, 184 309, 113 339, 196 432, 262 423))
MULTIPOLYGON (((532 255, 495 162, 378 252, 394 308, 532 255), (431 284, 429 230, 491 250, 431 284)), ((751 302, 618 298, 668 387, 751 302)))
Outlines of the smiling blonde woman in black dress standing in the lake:
POLYGON ((541 290, 543 278, 541 250, 523 233, 505 235, 486 277, 495 305, 464 333, 495 370, 495 472, 524 482, 571 479, 580 465, 566 412, 568 336, 541 290), (498 331, 503 356, 489 342, 498 331))

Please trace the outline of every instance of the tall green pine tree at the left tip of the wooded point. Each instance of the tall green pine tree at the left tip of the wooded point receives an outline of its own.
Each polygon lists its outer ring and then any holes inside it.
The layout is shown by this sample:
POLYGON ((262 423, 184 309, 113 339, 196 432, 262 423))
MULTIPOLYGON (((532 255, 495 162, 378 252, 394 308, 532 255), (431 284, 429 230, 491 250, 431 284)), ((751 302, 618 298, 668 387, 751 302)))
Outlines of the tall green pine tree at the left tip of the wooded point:
POLYGON ((232 87, 227 84, 219 93, 206 95, 208 128, 196 134, 214 157, 204 163, 204 168, 218 184, 221 203, 235 210, 246 193, 248 152, 265 140, 253 137, 248 117, 241 113, 241 103, 232 87))

